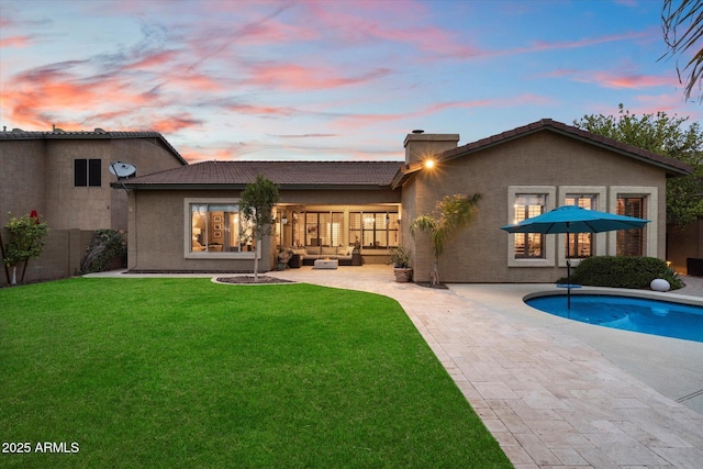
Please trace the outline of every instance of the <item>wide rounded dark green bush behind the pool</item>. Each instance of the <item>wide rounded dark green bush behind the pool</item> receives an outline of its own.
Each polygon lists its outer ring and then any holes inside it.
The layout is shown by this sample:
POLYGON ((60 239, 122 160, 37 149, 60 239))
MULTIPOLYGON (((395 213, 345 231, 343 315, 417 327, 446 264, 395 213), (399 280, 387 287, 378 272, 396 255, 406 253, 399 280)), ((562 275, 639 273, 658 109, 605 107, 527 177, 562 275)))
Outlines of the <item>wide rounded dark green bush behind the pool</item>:
POLYGON ((591 287, 647 289, 654 279, 667 280, 672 290, 683 287, 667 263, 656 257, 588 257, 571 271, 571 283, 591 287))

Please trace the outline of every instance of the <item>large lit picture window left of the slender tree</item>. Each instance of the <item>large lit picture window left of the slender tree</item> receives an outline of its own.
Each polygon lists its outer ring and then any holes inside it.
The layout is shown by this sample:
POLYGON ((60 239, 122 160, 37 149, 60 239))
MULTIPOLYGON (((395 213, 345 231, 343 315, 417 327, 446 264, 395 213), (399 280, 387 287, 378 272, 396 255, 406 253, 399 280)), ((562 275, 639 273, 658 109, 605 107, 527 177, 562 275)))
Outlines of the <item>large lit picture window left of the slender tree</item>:
POLYGON ((237 204, 191 203, 191 253, 254 252, 253 225, 239 217, 237 204))

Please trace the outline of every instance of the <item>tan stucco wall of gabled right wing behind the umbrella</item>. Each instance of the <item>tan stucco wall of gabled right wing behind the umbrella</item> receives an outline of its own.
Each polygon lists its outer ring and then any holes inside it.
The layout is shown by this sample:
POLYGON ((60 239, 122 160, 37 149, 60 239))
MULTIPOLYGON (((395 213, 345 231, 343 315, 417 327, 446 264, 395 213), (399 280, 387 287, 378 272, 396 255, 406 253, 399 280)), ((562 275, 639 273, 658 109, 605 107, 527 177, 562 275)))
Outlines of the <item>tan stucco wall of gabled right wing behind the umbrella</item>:
MULTIPOLYGON (((447 282, 551 282, 566 275, 565 267, 509 267, 509 235, 500 226, 509 224, 510 186, 550 186, 557 200, 563 203, 565 186, 604 187, 605 200, 599 200, 599 210, 614 211, 610 206, 613 187, 648 187, 657 192, 655 212, 659 221, 649 227, 656 236, 655 252, 650 256, 665 256, 666 191, 665 172, 651 165, 613 154, 600 147, 568 138, 551 132, 540 132, 516 141, 466 155, 432 170, 423 169, 415 177, 413 188, 415 209, 403 194, 403 213, 411 219, 432 211, 442 197, 453 193, 482 196, 475 223, 462 230, 445 246, 439 259, 439 277, 447 282)), ((406 185, 408 186, 408 185, 406 185)), ((405 188, 403 188, 405 189, 405 188)), ((616 194, 615 194, 616 196, 616 194)), ((409 220, 410 222, 411 220, 409 220)), ((605 236, 607 249, 614 238, 605 236)), ((563 236, 562 236, 563 237, 563 236)), ((556 243, 549 235, 547 243, 556 243)), ((607 253, 596 253, 599 255, 607 253)), ((419 237, 415 246, 415 280, 428 280, 432 268, 428 239, 419 237)), ((558 264, 558 263, 555 263, 558 264)))

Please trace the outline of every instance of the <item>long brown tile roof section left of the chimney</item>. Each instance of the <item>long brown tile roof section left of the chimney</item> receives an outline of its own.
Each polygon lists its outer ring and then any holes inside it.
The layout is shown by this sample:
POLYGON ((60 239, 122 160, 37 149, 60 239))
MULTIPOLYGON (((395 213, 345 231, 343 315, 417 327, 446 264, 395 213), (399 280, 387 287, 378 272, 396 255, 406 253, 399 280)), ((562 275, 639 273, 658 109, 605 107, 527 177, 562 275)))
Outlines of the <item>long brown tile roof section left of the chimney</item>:
POLYGON ((263 175, 281 188, 390 188, 401 161, 203 161, 125 179, 127 188, 245 187, 263 175))

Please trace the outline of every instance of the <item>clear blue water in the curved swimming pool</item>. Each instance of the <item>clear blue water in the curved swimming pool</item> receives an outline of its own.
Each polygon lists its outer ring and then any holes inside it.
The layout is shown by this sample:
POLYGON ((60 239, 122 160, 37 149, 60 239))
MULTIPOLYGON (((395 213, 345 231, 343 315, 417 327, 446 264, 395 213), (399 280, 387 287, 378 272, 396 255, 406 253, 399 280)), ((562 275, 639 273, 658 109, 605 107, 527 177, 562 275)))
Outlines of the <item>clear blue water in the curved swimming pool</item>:
POLYGON ((703 306, 603 294, 537 297, 525 303, 561 317, 604 327, 703 343, 703 306))

